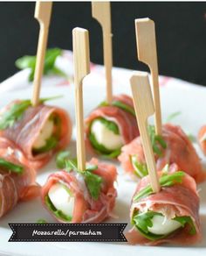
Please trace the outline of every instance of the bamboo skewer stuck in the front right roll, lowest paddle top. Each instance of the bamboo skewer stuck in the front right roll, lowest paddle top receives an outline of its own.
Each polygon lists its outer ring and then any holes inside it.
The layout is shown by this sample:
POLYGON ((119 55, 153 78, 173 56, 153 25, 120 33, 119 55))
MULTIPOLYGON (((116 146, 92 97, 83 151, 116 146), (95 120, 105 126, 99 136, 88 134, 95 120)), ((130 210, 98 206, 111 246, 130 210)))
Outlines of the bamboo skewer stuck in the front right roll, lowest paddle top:
POLYGON ((144 149, 148 166, 148 175, 154 193, 160 191, 160 183, 156 173, 153 148, 148 135, 148 117, 154 114, 154 102, 148 82, 148 75, 144 72, 136 72, 130 78, 134 109, 141 133, 141 143, 144 149))

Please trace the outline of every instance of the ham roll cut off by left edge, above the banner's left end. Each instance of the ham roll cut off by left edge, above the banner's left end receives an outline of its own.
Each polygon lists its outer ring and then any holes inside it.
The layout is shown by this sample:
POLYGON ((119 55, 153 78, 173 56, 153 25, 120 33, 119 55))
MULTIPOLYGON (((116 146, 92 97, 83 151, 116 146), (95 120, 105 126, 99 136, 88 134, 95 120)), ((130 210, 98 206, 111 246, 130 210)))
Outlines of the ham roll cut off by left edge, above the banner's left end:
POLYGON ((23 164, 24 155, 8 139, 0 138, 0 217, 12 210, 18 201, 40 195, 36 172, 23 164))

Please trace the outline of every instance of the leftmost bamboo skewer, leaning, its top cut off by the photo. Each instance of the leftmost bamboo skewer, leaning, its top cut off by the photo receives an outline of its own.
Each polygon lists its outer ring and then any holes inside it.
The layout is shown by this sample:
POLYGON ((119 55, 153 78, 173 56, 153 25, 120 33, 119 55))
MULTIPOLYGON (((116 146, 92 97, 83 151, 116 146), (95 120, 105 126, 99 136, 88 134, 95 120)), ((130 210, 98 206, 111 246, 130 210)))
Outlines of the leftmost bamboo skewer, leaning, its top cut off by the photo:
POLYGON ((34 74, 33 94, 31 99, 31 103, 33 106, 37 106, 39 102, 41 80, 45 66, 45 50, 47 46, 51 13, 52 2, 37 1, 34 17, 38 19, 40 31, 38 36, 38 53, 34 74))

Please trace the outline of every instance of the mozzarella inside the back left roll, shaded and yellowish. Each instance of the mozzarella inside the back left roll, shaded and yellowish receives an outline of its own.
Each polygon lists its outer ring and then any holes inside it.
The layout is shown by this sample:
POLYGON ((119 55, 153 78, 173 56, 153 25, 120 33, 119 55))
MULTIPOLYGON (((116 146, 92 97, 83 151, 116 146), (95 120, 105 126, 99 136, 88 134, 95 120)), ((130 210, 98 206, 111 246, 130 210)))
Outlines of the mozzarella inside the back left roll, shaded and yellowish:
POLYGON ((33 148, 41 148, 46 145, 46 139, 49 139, 52 136, 54 129, 54 123, 53 120, 48 119, 45 122, 44 127, 38 134, 38 138, 35 140, 33 144, 33 148))

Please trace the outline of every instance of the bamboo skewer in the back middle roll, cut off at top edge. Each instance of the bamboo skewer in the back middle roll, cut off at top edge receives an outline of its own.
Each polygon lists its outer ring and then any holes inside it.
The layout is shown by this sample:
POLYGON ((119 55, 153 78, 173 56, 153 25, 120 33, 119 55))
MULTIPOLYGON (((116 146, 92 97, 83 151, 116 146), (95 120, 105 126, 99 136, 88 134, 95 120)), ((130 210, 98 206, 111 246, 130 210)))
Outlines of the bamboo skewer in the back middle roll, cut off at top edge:
POLYGON ((102 28, 104 65, 106 72, 106 102, 113 100, 113 46, 111 33, 111 10, 109 2, 92 2, 93 18, 97 19, 102 28))

